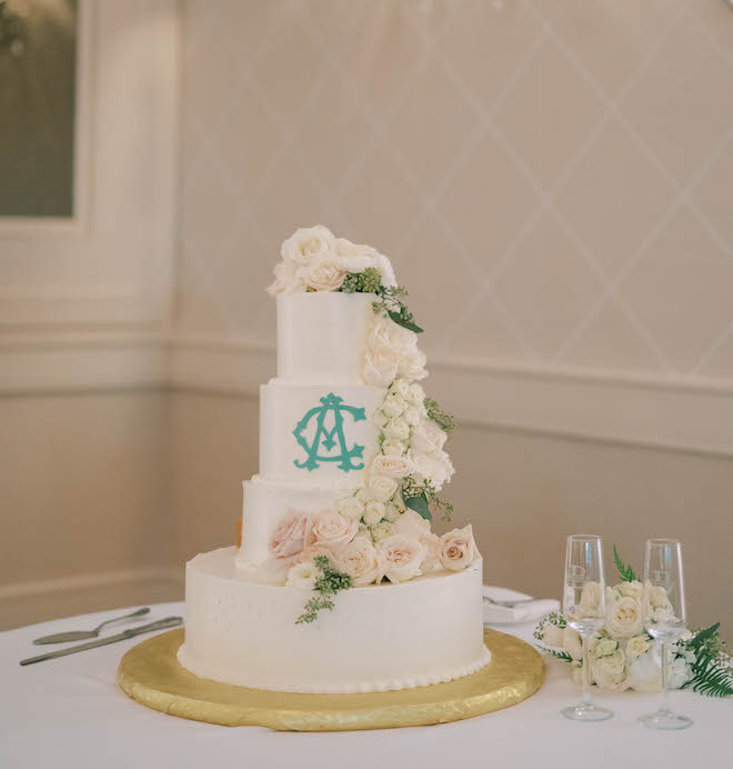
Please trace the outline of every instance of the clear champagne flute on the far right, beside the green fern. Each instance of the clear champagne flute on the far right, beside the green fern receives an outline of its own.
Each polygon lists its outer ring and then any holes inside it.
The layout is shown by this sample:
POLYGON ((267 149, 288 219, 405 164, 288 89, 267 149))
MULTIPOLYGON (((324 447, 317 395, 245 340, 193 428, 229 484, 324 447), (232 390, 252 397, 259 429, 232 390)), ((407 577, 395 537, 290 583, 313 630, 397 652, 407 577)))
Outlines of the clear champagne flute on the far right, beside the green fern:
POLYGON ((647 539, 644 553, 642 618, 646 632, 662 647, 662 703, 639 722, 650 729, 686 729, 692 719, 670 710, 670 643, 685 629, 682 545, 676 539, 647 539))

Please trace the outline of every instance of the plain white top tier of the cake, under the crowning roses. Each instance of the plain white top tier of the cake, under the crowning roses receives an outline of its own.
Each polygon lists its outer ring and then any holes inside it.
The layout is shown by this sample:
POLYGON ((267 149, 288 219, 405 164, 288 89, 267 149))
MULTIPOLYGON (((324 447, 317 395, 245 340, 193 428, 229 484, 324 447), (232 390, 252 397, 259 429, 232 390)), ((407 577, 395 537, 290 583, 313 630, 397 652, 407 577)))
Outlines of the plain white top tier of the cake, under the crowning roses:
POLYGON ((278 378, 362 384, 371 293, 308 292, 278 297, 278 378))

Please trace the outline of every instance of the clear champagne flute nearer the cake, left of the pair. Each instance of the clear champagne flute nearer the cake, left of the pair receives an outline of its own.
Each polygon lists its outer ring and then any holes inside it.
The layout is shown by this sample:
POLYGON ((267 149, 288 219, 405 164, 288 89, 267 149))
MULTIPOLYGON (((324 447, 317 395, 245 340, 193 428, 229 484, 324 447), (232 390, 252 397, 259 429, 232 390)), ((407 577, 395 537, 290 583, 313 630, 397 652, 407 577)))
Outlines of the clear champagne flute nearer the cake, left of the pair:
POLYGON ((603 543, 595 535, 571 535, 565 549, 565 587, 563 612, 568 625, 583 645, 583 698, 578 705, 560 712, 574 721, 604 721, 613 711, 591 699, 591 672, 588 646, 593 633, 605 622, 605 579, 603 576, 603 543))

